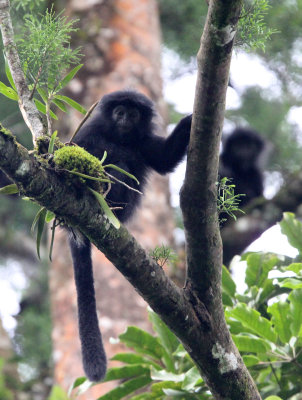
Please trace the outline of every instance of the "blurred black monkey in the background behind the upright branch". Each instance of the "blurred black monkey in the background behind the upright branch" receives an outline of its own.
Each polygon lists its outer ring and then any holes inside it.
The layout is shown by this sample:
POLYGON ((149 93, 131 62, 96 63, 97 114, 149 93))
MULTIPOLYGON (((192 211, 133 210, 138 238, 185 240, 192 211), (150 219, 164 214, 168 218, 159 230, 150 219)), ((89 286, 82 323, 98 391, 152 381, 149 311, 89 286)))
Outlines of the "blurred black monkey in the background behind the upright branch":
POLYGON ((260 135, 250 128, 236 128, 226 139, 220 155, 220 178, 232 178, 235 194, 245 194, 240 198, 240 206, 263 195, 263 173, 259 158, 265 149, 260 135))

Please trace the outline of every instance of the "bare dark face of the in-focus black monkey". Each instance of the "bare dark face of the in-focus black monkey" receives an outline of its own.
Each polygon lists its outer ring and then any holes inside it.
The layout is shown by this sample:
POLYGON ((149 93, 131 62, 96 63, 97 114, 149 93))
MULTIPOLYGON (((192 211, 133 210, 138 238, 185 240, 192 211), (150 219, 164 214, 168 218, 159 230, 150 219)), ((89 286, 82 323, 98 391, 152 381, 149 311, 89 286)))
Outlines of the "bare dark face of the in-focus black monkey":
POLYGON ((112 110, 112 120, 118 134, 122 136, 133 133, 140 122, 140 118, 140 112, 135 107, 118 105, 112 110))

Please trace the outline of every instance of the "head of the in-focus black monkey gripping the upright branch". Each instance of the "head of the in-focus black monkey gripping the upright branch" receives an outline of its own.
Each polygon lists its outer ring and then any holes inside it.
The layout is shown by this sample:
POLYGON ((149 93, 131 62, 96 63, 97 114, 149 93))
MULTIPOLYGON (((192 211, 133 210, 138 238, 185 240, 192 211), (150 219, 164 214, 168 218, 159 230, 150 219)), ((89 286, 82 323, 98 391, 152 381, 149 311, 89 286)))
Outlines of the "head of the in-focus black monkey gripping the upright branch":
POLYGON ((134 143, 152 129, 154 106, 143 94, 134 91, 113 92, 104 96, 98 107, 113 141, 134 143))

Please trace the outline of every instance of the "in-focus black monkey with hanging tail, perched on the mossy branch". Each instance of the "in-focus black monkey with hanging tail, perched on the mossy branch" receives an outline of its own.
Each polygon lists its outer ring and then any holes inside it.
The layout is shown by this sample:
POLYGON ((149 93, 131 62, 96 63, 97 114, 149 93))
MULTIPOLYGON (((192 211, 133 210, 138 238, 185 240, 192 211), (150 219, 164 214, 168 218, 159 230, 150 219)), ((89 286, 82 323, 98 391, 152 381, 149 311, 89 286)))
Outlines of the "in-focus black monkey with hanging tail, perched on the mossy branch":
MULTIPOLYGON (((189 142, 192 116, 183 118, 165 139, 154 134, 156 112, 151 100, 134 91, 117 91, 104 96, 80 128, 74 142, 98 158, 108 153, 106 163, 115 164, 134 175, 140 185, 116 170, 109 171, 129 186, 144 190, 148 172, 173 171, 184 158, 189 142)), ((106 200, 121 222, 133 215, 140 194, 124 185, 112 185, 106 200)), ((70 234, 78 299, 79 332, 84 371, 91 381, 106 373, 106 355, 98 326, 90 241, 70 234)))

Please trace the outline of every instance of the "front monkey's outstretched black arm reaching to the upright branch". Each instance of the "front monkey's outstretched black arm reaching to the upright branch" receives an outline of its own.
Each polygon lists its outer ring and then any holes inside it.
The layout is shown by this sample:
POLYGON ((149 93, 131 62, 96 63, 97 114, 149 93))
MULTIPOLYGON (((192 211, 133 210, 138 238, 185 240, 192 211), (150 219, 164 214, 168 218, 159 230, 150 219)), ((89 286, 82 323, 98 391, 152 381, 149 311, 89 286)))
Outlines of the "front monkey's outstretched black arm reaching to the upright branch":
POLYGON ((165 139, 150 136, 141 148, 149 166, 160 174, 172 172, 186 154, 191 130, 192 115, 183 118, 165 139))

